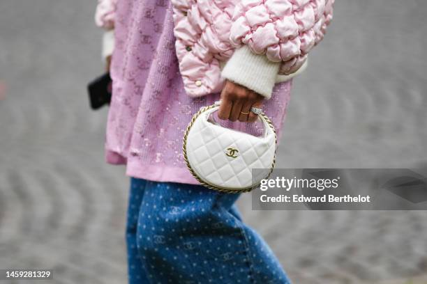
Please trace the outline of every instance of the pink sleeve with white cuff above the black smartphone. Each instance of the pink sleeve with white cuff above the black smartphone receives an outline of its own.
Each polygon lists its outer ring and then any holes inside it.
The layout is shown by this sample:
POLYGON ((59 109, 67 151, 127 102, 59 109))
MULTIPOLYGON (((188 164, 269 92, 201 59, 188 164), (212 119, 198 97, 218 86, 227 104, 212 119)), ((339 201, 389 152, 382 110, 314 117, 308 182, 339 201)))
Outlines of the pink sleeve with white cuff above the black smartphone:
POLYGON ((95 23, 105 29, 103 36, 103 58, 111 56, 114 51, 114 21, 116 17, 117 0, 98 0, 95 23))

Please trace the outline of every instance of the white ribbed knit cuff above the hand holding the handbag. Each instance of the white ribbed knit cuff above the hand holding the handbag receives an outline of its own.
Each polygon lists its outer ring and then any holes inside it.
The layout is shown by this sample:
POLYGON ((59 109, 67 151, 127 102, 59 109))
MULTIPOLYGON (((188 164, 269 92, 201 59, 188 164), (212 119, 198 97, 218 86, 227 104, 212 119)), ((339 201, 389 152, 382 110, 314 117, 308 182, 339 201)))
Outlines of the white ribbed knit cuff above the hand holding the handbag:
POLYGON ((225 79, 254 90, 268 100, 279 68, 279 62, 269 61, 265 55, 254 54, 247 45, 244 45, 234 51, 221 75, 225 79))

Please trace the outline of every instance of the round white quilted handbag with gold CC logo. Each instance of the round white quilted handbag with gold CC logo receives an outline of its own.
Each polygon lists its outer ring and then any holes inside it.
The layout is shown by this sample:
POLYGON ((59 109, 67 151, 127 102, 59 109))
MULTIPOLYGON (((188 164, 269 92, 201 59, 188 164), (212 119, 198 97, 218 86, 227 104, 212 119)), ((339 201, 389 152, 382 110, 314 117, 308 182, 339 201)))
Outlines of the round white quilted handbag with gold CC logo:
POLYGON ((193 176, 209 189, 250 191, 273 171, 276 131, 264 113, 258 115, 264 127, 260 137, 222 127, 209 120, 218 109, 218 104, 213 104, 193 116, 184 134, 184 159, 193 176), (264 171, 253 177, 253 168, 264 171))

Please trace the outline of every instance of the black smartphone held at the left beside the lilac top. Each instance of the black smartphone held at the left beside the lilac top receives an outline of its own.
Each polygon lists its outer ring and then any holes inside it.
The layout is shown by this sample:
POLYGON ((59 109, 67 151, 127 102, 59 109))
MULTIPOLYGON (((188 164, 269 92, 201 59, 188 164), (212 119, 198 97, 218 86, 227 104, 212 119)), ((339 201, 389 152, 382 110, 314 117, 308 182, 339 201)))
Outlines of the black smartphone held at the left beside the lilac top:
POLYGON ((110 104, 112 94, 112 79, 110 73, 91 81, 87 86, 91 109, 99 109, 104 104, 110 104))

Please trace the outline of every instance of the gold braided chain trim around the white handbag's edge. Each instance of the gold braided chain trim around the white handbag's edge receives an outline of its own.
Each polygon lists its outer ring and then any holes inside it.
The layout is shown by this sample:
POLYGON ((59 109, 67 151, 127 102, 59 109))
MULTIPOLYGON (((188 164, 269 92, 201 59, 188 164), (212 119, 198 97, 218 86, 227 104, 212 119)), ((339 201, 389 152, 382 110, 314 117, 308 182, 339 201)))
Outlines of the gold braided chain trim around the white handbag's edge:
MULTIPOLYGON (((193 170, 193 168, 191 168, 190 166, 190 161, 188 161, 188 157, 187 157, 187 138, 188 138, 188 133, 190 133, 190 129, 191 127, 193 127, 193 124, 195 122, 195 120, 205 111, 208 111, 209 109, 213 109, 214 107, 218 107, 216 104, 212 104, 208 107, 204 107, 202 109, 200 109, 200 111, 197 111, 197 113, 195 113, 195 115, 193 116, 193 118, 191 118, 190 123, 188 124, 188 127, 186 129, 186 132, 183 136, 183 146, 182 146, 182 150, 183 150, 183 156, 184 156, 184 160, 186 161, 187 164, 187 168, 190 171, 191 175, 193 175, 193 177, 200 182, 200 184, 202 184, 202 186, 207 187, 208 189, 213 189, 216 191, 220 191, 226 194, 240 194, 242 192, 248 192, 248 191, 252 191, 253 189, 257 188, 260 184, 255 184, 253 187, 250 187, 248 189, 225 189, 225 188, 221 188, 221 187, 216 187, 213 184, 209 184, 208 182, 205 182, 204 180, 202 180, 202 178, 200 178, 195 171, 193 170)), ((276 129, 274 128, 273 123, 271 123, 271 120, 268 116, 265 115, 264 112, 260 113, 259 116, 262 116, 262 118, 264 118, 264 120, 267 122, 267 124, 269 125, 269 127, 271 127, 271 129, 273 129, 274 132, 274 139, 275 139, 275 143, 276 143, 276 148, 277 148, 277 134, 276 134, 276 129)), ((269 178, 269 176, 271 175, 271 173, 273 172, 274 166, 276 164, 276 149, 274 150, 274 157, 273 157, 273 164, 271 164, 271 169, 269 174, 267 175, 266 178, 269 178)))

